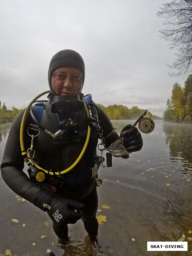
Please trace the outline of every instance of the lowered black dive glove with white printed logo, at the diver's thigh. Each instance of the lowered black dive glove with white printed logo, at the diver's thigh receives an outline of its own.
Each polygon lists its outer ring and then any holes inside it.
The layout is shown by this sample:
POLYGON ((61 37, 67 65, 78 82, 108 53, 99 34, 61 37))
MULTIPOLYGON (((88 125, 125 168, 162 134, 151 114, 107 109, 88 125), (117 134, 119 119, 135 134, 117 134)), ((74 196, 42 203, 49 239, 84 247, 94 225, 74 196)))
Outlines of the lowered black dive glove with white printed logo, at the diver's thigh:
POLYGON ((85 208, 84 204, 52 195, 45 190, 39 191, 34 199, 34 205, 47 212, 55 223, 60 224, 76 223, 81 219, 82 210, 85 208))

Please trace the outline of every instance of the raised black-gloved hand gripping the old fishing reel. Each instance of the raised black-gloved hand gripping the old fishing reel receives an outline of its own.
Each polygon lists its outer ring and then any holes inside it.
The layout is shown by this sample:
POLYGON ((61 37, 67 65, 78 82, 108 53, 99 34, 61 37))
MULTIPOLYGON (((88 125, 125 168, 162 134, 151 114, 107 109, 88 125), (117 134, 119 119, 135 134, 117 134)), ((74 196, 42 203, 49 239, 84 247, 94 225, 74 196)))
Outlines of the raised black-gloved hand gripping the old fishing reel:
POLYGON ((123 146, 127 152, 139 151, 143 146, 141 134, 136 127, 131 127, 127 124, 120 133, 120 138, 123 138, 123 146))

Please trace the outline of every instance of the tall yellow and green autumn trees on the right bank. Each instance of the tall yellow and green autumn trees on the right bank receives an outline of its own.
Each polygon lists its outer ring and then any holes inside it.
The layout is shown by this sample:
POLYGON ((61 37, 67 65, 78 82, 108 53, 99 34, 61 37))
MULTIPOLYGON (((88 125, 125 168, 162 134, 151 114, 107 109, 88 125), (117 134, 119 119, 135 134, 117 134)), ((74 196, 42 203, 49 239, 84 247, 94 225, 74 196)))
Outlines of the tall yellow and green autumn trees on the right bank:
POLYGON ((192 122, 192 75, 188 76, 184 87, 177 82, 173 84, 163 117, 164 121, 192 122))

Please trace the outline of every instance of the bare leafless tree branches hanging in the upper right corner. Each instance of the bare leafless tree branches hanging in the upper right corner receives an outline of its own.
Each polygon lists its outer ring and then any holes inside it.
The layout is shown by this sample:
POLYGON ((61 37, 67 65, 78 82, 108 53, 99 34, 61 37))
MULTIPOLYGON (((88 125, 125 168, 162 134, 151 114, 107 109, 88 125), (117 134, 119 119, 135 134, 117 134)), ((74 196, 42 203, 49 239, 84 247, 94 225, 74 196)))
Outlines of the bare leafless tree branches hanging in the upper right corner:
POLYGON ((160 9, 157 16, 165 19, 160 33, 176 50, 176 60, 169 65, 177 69, 172 75, 186 75, 192 71, 192 1, 173 0, 160 9))

